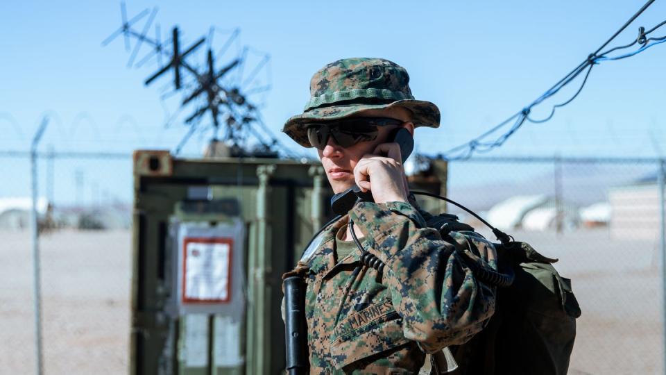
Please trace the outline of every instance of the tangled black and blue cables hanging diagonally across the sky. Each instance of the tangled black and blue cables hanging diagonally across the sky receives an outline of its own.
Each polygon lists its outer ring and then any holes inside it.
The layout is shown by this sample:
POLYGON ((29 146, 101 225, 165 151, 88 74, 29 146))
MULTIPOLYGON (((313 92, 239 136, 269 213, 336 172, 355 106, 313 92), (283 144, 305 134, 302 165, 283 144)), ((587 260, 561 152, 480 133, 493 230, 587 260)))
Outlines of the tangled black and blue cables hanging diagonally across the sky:
POLYGON ((658 30, 658 28, 666 24, 666 21, 664 21, 661 22, 660 24, 657 24, 653 28, 650 28, 647 31, 645 31, 645 28, 641 26, 638 28, 638 38, 635 38, 633 42, 622 46, 613 47, 604 52, 601 52, 601 50, 606 48, 606 46, 608 46, 608 44, 610 44, 610 42, 612 42, 617 37, 617 35, 620 35, 620 33, 622 33, 622 31, 624 31, 624 29, 627 26, 629 26, 629 24, 631 24, 638 16, 640 16, 644 10, 646 10, 649 6, 651 6, 652 3, 654 3, 654 0, 650 0, 647 3, 645 3, 644 6, 642 6, 642 8, 640 8, 640 10, 638 10, 638 12, 636 12, 635 15, 633 15, 629 19, 629 21, 627 21, 619 30, 617 30, 613 34, 613 36, 611 36, 604 44, 602 44, 601 47, 597 49, 597 51, 590 53, 590 55, 586 58, 586 60, 583 60, 583 62, 579 64, 577 67, 575 67, 571 72, 569 72, 569 74, 565 75, 560 81, 558 81, 555 85, 549 88, 544 94, 542 94, 536 100, 529 103, 529 105, 524 106, 522 110, 520 110, 518 113, 515 113, 508 119, 505 119, 503 122, 500 122, 499 124, 493 126, 488 131, 485 131, 481 135, 478 135, 476 138, 473 138, 468 142, 460 144, 459 146, 448 149, 443 153, 439 153, 437 157, 445 160, 464 160, 470 158, 472 154, 475 152, 486 153, 488 151, 496 149, 497 147, 502 146, 502 144, 504 144, 504 142, 506 142, 506 140, 508 140, 511 137, 511 135, 513 135, 516 131, 518 131, 518 129, 520 129, 521 126, 525 124, 525 122, 531 122, 533 124, 543 124, 544 122, 547 122, 550 119, 552 119, 552 117, 555 115, 555 110, 557 108, 567 106, 567 104, 574 101, 574 99, 578 97, 578 95, 585 87, 588 81, 588 77, 590 76, 590 72, 592 72, 592 67, 594 67, 595 65, 598 65, 602 61, 614 61, 614 60, 622 60, 624 58, 629 58, 631 56, 635 56, 638 53, 645 51, 646 49, 649 49, 650 47, 666 42, 666 35, 657 38, 649 37, 651 33, 654 33, 654 31, 658 30), (625 53, 622 55, 610 56, 610 53, 613 53, 615 51, 620 51, 622 49, 631 48, 636 44, 639 44, 640 48, 636 49, 635 51, 631 51, 630 53, 625 53), (562 103, 554 105, 550 111, 550 114, 543 119, 533 119, 532 117, 529 116, 533 107, 538 106, 540 103, 543 103, 543 101, 545 101, 546 99, 553 97, 562 88, 564 88, 566 85, 574 81, 574 79, 576 79, 583 72, 585 72, 583 81, 579 89, 572 95, 572 97, 570 97, 566 101, 563 101, 562 103), (502 135, 499 135, 499 137, 495 138, 494 140, 487 140, 488 138, 490 138, 490 135, 493 135, 493 133, 496 133, 497 131, 499 131, 499 129, 504 128, 509 124, 511 124, 509 130, 505 131, 502 135))

